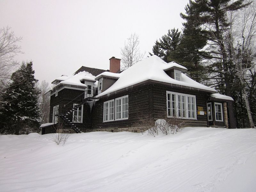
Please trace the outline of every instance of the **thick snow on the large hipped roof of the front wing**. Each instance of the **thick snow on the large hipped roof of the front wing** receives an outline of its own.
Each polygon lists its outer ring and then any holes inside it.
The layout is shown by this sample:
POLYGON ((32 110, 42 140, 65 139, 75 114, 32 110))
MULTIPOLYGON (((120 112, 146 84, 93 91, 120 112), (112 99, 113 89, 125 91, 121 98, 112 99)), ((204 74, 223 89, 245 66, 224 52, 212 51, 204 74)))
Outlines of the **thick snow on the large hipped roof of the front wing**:
POLYGON ((179 68, 183 67, 175 62, 166 63, 164 60, 160 59, 156 55, 152 55, 146 58, 145 60, 142 60, 132 65, 131 67, 124 70, 122 73, 117 74, 119 76, 119 79, 106 91, 100 93, 98 97, 106 95, 111 92, 115 92, 117 90, 123 89, 134 84, 138 84, 146 80, 155 80, 170 84, 178 84, 182 86, 193 87, 209 92, 216 92, 215 89, 197 83, 196 81, 189 78, 183 73, 181 73, 182 81, 178 81, 171 78, 164 72, 164 70, 172 68, 173 66, 179 66, 179 68))

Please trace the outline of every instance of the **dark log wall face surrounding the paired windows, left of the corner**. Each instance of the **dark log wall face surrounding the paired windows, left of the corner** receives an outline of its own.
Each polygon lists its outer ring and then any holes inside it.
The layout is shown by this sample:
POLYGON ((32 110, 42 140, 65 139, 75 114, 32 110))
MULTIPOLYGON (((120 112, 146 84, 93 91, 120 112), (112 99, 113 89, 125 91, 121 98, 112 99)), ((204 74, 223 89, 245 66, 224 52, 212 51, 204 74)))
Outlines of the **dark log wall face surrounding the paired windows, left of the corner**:
POLYGON ((149 115, 149 84, 141 84, 136 87, 129 87, 124 92, 103 96, 99 98, 92 108, 92 128, 126 128, 135 126, 141 116, 149 115), (103 103, 125 95, 128 96, 128 116, 126 120, 110 121, 103 123, 103 103))

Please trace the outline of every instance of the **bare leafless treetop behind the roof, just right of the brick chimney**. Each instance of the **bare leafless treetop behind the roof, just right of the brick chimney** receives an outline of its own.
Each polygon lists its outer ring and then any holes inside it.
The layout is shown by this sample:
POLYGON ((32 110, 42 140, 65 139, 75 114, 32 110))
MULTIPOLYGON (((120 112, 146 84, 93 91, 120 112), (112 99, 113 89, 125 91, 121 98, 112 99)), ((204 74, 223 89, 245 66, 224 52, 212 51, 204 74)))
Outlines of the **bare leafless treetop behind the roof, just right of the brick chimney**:
POLYGON ((146 52, 140 53, 139 44, 140 39, 136 33, 131 34, 124 42, 124 47, 121 48, 122 69, 129 68, 144 58, 146 52))

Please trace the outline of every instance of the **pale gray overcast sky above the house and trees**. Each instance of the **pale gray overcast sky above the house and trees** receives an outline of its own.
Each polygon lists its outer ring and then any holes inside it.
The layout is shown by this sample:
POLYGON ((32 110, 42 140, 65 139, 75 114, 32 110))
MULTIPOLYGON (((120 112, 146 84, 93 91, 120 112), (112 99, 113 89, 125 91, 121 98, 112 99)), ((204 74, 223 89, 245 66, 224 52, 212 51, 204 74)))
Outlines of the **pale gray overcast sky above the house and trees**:
POLYGON ((33 61, 35 76, 51 83, 81 66, 109 69, 121 58, 124 41, 136 33, 140 50, 152 52, 156 39, 182 27, 188 0, 65 1, 0 0, 0 28, 22 36, 18 61, 33 61))

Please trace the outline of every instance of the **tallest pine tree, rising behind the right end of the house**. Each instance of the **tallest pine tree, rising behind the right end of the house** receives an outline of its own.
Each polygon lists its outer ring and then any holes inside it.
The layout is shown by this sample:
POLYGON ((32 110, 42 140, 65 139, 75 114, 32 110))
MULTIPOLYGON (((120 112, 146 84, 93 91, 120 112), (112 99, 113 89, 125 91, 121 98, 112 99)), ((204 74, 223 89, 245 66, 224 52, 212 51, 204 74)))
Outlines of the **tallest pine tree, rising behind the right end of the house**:
MULTIPOLYGON (((228 60, 228 46, 226 41, 227 30, 230 26, 228 22, 227 12, 241 9, 249 3, 244 3, 244 0, 195 0, 189 2, 189 6, 193 7, 198 14, 196 18, 190 12, 183 15, 191 22, 198 22, 205 34, 208 45, 207 55, 199 53, 202 56, 209 56, 212 59, 213 65, 209 65, 212 73, 211 79, 215 79, 218 86, 225 84, 225 94, 232 97, 231 83, 232 76, 230 76, 230 65, 232 62, 228 60)), ((206 48, 205 48, 206 49, 206 48)), ((195 50, 196 51, 196 50, 195 50)), ((230 127, 236 128, 236 121, 233 111, 233 103, 228 102, 230 127)))

